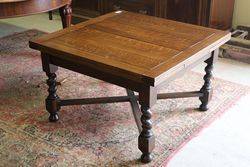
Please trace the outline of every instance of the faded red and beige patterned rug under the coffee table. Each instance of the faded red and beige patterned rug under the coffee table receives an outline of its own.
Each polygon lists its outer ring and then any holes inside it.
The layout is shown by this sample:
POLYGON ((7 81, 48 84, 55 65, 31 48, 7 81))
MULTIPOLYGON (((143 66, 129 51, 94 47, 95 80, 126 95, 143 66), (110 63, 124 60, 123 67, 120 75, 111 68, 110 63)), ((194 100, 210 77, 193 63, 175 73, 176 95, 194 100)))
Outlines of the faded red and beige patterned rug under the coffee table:
MULTIPOLYGON (((0 39, 0 166, 140 166, 138 130, 129 103, 64 107, 58 123, 48 122, 47 79, 29 30, 0 39)), ((62 98, 125 95, 123 88, 65 69, 58 72, 62 98), (68 79, 70 78, 70 79, 68 79)), ((202 75, 189 72, 161 92, 199 90, 202 75)), ((154 161, 165 166, 183 143, 237 99, 248 87, 215 79, 210 110, 198 98, 160 100, 152 108, 156 135, 154 161)))

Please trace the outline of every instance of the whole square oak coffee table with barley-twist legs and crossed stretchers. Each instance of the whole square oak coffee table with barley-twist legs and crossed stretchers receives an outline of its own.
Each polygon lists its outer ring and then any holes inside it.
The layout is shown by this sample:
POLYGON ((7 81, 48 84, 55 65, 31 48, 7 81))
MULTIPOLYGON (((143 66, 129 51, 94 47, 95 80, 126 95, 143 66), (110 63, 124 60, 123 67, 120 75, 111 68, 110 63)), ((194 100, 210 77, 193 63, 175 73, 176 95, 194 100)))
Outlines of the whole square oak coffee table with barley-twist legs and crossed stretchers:
POLYGON ((208 110, 213 64, 230 37, 229 32, 117 11, 44 35, 30 41, 30 47, 41 51, 49 78, 50 121, 59 119, 62 106, 129 101, 140 132, 141 161, 148 163, 155 147, 150 108, 157 99, 199 97, 199 109, 208 110), (162 85, 203 61, 207 66, 200 90, 157 94, 162 85), (61 100, 56 93, 58 66, 124 87, 128 96, 61 100))

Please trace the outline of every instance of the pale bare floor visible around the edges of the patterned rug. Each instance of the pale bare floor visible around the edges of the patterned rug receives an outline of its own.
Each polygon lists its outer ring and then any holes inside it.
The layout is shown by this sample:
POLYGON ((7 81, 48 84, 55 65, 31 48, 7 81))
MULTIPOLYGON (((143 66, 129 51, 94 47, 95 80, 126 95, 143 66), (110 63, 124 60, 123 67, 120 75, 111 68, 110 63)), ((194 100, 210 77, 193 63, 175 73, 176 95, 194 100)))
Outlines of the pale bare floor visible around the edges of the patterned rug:
MULTIPOLYGON (((61 29, 57 15, 48 14, 0 21, 0 37, 25 29, 46 32, 61 29), (11 27, 11 28, 9 28, 11 27)), ((193 69, 203 72, 204 65, 193 69)), ((215 77, 250 86, 250 65, 229 59, 219 59, 215 77)), ((169 167, 249 167, 250 166, 250 95, 240 99, 222 117, 188 142, 170 160, 169 167)))

